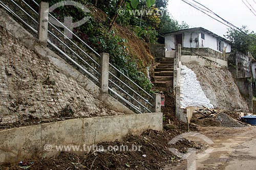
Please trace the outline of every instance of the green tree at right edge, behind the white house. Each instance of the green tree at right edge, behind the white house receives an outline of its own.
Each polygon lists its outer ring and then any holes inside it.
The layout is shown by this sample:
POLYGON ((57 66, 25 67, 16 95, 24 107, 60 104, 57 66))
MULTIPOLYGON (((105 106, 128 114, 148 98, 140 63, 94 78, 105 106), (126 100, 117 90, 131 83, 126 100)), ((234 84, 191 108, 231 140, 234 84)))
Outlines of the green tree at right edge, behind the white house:
MULTIPOLYGON (((256 34, 250 32, 246 26, 242 26, 241 30, 246 34, 255 37, 256 34)), ((246 36, 239 30, 228 29, 227 34, 224 35, 229 41, 232 42, 232 51, 239 51, 243 54, 250 52, 256 58, 256 42, 252 38, 246 36)))

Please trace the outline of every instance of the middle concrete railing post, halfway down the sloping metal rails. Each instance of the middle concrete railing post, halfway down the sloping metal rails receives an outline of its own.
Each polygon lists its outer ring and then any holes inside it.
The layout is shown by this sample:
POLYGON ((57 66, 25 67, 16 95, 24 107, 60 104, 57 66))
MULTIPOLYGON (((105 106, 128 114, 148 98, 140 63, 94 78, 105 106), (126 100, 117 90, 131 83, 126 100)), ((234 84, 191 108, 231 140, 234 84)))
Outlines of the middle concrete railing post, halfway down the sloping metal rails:
POLYGON ((101 53, 100 60, 100 76, 99 83, 103 92, 108 93, 109 90, 109 68, 110 68, 110 55, 108 53, 101 53))

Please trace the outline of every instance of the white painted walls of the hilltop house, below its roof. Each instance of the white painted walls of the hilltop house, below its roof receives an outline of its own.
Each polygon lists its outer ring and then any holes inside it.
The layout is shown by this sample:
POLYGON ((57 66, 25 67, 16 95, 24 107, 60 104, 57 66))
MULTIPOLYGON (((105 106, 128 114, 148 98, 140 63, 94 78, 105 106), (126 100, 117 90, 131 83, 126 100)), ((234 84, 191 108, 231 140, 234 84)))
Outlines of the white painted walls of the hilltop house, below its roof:
MULTIPOLYGON (((179 33, 178 33, 179 34, 179 33)), ((217 39, 216 37, 213 37, 207 33, 203 33, 205 36, 204 39, 202 39, 201 34, 199 31, 198 32, 184 32, 182 33, 182 46, 183 47, 193 47, 193 48, 201 48, 201 47, 208 47, 211 48, 212 50, 221 52, 218 47, 217 47, 217 39), (190 42, 190 38, 192 38, 192 42, 190 42), (198 38, 198 42, 196 42, 196 38, 198 38)), ((231 45, 228 44, 225 41, 221 41, 226 47, 226 53, 231 52, 231 45)), ((175 34, 173 35, 168 35, 165 36, 165 49, 170 50, 171 48, 175 48, 175 34)))

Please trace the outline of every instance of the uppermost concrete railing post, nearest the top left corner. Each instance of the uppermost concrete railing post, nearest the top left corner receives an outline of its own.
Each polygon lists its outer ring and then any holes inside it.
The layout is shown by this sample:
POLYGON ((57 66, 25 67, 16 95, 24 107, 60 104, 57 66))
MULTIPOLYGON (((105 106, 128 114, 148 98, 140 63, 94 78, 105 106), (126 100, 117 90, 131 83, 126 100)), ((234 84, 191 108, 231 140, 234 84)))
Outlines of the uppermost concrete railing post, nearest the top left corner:
POLYGON ((48 39, 48 14, 49 4, 45 2, 40 3, 39 7, 39 25, 38 25, 38 39, 43 45, 47 45, 48 39))

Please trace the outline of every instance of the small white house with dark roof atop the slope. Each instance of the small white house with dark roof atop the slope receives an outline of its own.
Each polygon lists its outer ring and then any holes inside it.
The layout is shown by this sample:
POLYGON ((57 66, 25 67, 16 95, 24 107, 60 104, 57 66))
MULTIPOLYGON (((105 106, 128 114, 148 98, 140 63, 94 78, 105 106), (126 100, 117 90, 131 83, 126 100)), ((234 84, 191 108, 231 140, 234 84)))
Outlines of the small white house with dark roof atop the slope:
POLYGON ((178 44, 181 44, 182 47, 189 48, 211 48, 220 53, 225 47, 226 53, 231 52, 231 42, 202 27, 165 33, 164 37, 167 51, 172 51, 178 44))

